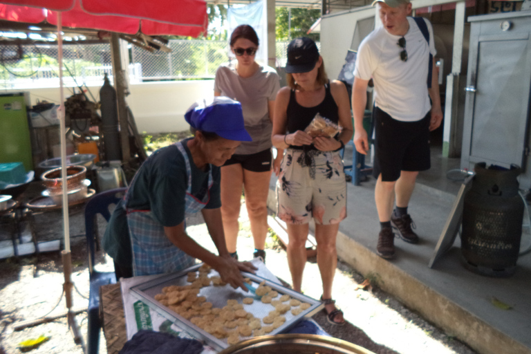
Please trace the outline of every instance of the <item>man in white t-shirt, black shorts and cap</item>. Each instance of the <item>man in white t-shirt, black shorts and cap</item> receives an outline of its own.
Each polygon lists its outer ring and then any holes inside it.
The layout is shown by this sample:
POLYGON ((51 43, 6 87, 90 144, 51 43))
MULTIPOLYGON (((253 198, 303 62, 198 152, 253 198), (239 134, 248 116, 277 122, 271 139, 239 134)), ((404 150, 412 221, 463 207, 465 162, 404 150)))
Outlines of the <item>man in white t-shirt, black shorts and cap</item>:
MULTIPOLYGON (((435 55, 431 24, 425 21, 429 43, 411 14, 409 0, 375 0, 382 27, 360 44, 354 71, 352 107, 356 150, 369 149, 363 128, 366 88, 374 82, 375 109, 375 201, 380 218, 377 253, 395 254, 394 234, 409 243, 418 236, 407 214, 418 171, 429 169, 429 131, 440 126, 438 75, 433 70, 428 88, 430 54, 435 55), (431 98, 431 103, 430 103, 431 98), (394 198, 396 208, 393 211, 394 198)), ((435 61, 431 59, 433 68, 435 61)))

